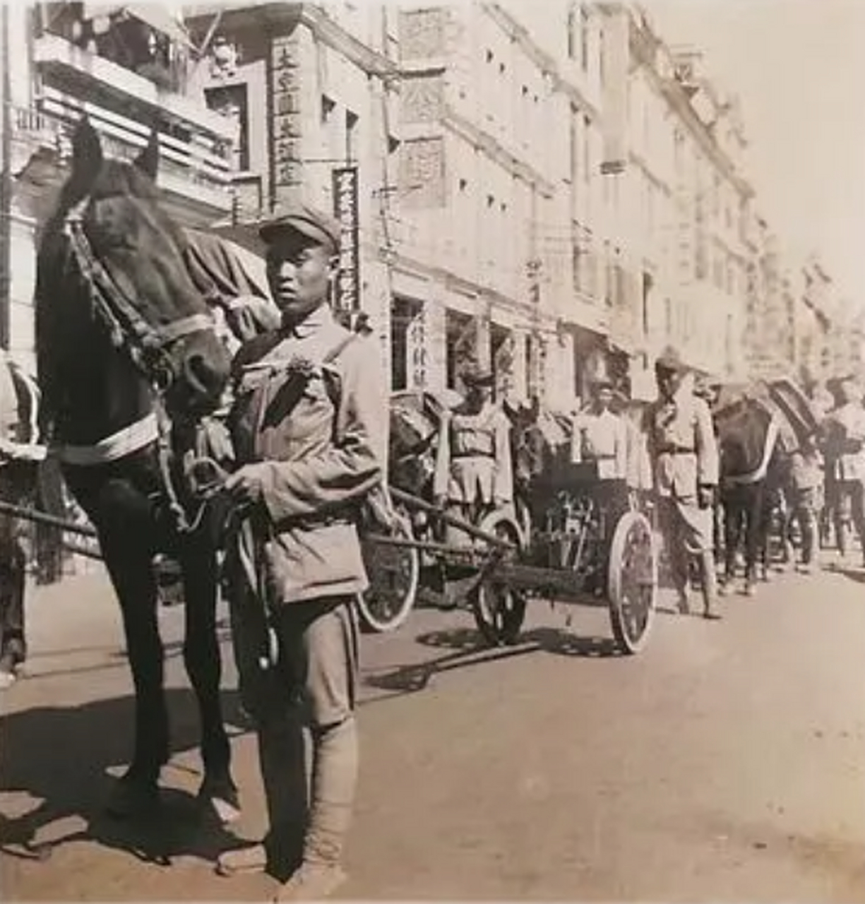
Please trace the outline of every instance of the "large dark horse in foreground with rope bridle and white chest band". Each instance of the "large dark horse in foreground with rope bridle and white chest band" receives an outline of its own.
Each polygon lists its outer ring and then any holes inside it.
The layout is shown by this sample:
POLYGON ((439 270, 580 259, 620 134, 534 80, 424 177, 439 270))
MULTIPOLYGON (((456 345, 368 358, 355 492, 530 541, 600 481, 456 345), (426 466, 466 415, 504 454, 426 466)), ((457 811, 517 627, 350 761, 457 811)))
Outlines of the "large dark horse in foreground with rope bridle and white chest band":
POLYGON ((111 797, 116 815, 158 803, 169 758, 153 565, 162 551, 183 567, 183 660, 201 714, 199 796, 218 811, 221 802, 237 806, 221 711, 214 546, 205 532, 184 532, 179 511, 188 500, 170 477, 178 426, 215 410, 230 358, 188 272, 183 232, 160 208, 157 165, 155 135, 134 164, 121 163, 103 158, 82 120, 37 260, 42 435, 99 534, 135 684, 135 752, 111 797))

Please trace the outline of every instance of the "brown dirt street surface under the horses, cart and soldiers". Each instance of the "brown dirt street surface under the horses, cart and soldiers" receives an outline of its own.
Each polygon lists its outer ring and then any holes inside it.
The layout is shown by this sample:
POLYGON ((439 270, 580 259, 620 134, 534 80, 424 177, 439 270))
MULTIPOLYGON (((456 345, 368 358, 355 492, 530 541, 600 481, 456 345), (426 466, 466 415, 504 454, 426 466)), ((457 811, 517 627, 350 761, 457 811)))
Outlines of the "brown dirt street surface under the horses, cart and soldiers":
MULTIPOLYGON (((862 572, 780 576, 729 597, 720 624, 662 612, 634 658, 611 654, 603 612, 541 602, 506 651, 478 652, 465 613, 365 637, 338 897, 865 900, 863 591, 862 572)), ((138 835, 100 813, 132 717, 105 582, 40 589, 30 615, 30 676, 2 702, 4 898, 263 899, 263 880, 213 875, 231 833, 193 811, 183 611, 162 615, 167 817, 138 835)), ((244 795, 232 832, 254 837, 256 745, 226 697, 244 795)))

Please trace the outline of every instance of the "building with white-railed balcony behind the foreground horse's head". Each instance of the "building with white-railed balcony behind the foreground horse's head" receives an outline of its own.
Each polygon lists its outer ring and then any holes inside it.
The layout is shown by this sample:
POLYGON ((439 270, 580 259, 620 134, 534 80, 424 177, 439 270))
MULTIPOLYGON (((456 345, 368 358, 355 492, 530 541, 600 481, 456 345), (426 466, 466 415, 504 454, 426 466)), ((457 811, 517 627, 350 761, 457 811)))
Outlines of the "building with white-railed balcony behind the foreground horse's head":
POLYGON ((35 247, 67 175, 71 127, 87 115, 121 158, 155 128, 166 202, 202 225, 230 210, 230 124, 189 95, 192 46, 162 5, 4 4, 0 40, 0 341, 33 366, 35 247))

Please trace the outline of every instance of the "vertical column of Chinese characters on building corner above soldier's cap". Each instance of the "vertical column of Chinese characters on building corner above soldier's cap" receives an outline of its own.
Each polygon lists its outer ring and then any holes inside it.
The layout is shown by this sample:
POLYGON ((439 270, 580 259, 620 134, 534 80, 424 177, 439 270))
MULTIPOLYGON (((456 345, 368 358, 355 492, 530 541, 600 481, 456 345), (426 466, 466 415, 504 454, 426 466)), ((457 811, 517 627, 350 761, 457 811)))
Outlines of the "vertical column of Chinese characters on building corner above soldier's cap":
POLYGON ((271 49, 273 88, 272 159, 274 185, 294 187, 303 178, 300 163, 300 79, 296 37, 275 38, 271 49))

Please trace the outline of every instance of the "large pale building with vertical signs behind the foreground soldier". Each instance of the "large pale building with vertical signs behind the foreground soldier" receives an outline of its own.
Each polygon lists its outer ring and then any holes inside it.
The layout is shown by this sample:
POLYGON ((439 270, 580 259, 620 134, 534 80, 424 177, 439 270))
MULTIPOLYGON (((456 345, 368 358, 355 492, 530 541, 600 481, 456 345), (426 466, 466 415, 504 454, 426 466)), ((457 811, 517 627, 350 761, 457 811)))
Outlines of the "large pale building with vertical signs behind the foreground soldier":
POLYGON ((608 370, 603 17, 530 13, 188 10, 196 40, 216 39, 202 90, 239 123, 236 219, 295 196, 334 209, 334 171, 356 167, 354 297, 394 389, 454 386, 473 357, 503 391, 567 408, 608 370))

